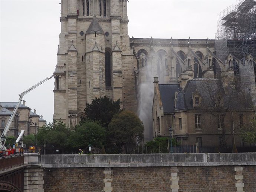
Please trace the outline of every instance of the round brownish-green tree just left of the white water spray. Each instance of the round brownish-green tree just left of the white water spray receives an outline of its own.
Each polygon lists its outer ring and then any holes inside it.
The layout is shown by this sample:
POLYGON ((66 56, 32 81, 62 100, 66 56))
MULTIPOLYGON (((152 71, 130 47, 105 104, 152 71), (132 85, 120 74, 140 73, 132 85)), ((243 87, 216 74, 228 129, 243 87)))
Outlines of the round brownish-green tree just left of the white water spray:
POLYGON ((130 111, 122 111, 112 118, 108 125, 115 146, 124 146, 125 153, 131 153, 144 139, 144 126, 139 117, 130 111))

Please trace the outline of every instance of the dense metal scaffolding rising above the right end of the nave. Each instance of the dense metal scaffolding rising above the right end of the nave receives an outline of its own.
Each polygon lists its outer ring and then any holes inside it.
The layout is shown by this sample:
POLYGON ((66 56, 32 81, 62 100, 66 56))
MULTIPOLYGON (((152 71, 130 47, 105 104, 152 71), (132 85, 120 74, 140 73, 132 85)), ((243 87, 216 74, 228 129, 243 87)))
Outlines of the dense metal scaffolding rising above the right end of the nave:
POLYGON ((242 63, 256 58, 256 0, 237 0, 217 16, 216 54, 224 62, 232 53, 242 63))

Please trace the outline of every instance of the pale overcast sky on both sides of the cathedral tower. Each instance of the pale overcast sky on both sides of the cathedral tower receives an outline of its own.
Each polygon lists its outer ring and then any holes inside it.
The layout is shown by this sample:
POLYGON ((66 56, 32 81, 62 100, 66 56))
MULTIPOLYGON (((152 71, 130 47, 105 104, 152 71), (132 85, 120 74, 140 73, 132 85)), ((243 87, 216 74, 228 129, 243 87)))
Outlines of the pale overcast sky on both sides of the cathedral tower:
MULTIPOLYGON (((57 63, 60 0, 0 0, 0 102, 50 77, 57 63)), ((217 14, 236 0, 129 0, 128 34, 140 38, 214 39, 217 14)), ((86 29, 85 29, 86 30, 86 29)), ((54 79, 23 97, 47 123, 54 79)))

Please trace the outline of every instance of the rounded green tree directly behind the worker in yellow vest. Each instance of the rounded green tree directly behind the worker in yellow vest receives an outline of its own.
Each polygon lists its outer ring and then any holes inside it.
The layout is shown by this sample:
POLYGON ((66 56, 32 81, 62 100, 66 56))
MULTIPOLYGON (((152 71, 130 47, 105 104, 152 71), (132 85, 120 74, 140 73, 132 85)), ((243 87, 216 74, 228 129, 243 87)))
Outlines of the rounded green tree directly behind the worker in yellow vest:
POLYGON ((89 144, 101 147, 106 139, 106 130, 98 122, 83 121, 69 136, 69 145, 85 149, 89 144))

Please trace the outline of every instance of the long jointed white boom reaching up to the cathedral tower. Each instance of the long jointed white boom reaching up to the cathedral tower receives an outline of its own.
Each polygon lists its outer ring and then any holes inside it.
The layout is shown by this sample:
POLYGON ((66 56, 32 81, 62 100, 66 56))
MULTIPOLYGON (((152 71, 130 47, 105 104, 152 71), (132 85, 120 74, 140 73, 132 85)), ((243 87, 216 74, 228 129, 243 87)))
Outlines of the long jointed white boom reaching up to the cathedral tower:
POLYGON ((10 126, 11 126, 11 124, 12 124, 13 118, 15 117, 15 115, 16 115, 16 113, 17 113, 17 110, 19 109, 19 106, 20 106, 20 103, 22 102, 23 96, 26 95, 27 93, 29 93, 30 91, 32 91, 33 89, 35 89, 36 87, 38 87, 39 85, 41 85, 42 83, 44 83, 44 82, 46 82, 47 80, 51 79, 52 77, 53 77, 53 75, 50 76, 50 77, 46 77, 46 78, 43 79, 42 81, 36 83, 35 85, 33 85, 32 87, 30 87, 29 89, 27 89, 27 90, 25 90, 24 92, 22 92, 22 93, 19 94, 19 96, 20 96, 19 102, 18 102, 17 105, 14 107, 14 110, 13 110, 13 112, 12 112, 12 115, 11 115, 10 119, 8 120, 8 122, 7 122, 7 124, 6 124, 5 128, 4 128, 4 131, 3 131, 2 135, 1 135, 1 136, 4 136, 4 137, 5 137, 4 143, 3 143, 2 140, 0 140, 0 149, 1 149, 1 150, 2 150, 2 148, 3 148, 3 145, 4 145, 5 142, 6 142, 6 138, 7 138, 8 132, 9 132, 9 128, 10 128, 10 126))

